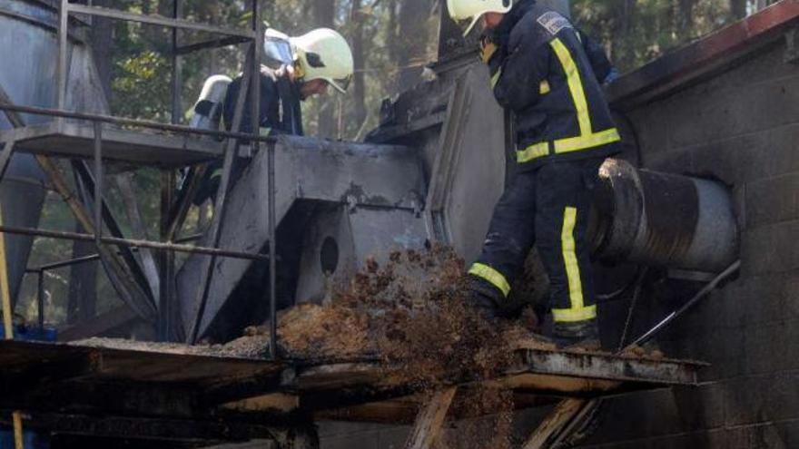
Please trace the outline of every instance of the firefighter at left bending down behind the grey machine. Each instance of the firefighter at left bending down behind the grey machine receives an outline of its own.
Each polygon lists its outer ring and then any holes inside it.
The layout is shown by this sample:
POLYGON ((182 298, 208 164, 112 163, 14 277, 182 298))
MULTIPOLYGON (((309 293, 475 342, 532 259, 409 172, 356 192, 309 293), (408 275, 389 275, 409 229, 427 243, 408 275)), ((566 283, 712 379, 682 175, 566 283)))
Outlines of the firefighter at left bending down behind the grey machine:
MULTIPOLYGON (((350 44, 334 30, 319 28, 299 37, 288 38, 288 44, 291 46, 291 63, 284 63, 277 69, 261 65, 261 135, 303 135, 300 102, 313 95, 326 93, 328 86, 345 93, 354 72, 350 44)), ((222 120, 229 131, 241 85, 242 75, 239 75, 230 83, 225 94, 222 120)), ((249 133, 252 132, 250 95, 245 98, 240 131, 249 133)), ((242 167, 237 163, 234 171, 241 170, 242 167)), ((195 197, 196 204, 211 198, 219 189, 222 164, 212 164, 208 173, 195 197)))

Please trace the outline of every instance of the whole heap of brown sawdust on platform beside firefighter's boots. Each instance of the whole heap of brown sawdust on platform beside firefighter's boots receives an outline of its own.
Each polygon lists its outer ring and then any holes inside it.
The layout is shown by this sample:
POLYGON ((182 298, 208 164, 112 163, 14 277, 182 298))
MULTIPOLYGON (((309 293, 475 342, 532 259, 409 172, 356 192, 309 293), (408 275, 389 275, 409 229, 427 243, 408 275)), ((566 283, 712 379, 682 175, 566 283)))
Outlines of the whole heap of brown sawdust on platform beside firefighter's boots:
MULTIPOLYGON (((464 298, 464 266, 453 250, 394 251, 380 265, 368 259, 332 302, 302 304, 278 314, 283 356, 311 360, 380 357, 393 380, 427 388, 485 378, 507 366, 516 347, 553 348, 528 329, 535 315, 488 322, 464 298), (452 376, 459 377, 458 379, 452 376)), ((231 356, 262 356, 266 327, 219 347, 231 356)))

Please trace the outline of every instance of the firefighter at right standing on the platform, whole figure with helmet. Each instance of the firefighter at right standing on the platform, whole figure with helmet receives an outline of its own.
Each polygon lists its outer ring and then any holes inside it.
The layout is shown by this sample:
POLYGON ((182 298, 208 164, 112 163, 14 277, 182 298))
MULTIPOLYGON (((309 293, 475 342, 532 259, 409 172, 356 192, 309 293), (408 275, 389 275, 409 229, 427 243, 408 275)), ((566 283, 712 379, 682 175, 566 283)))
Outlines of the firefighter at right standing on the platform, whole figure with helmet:
POLYGON ((494 316, 533 244, 547 268, 558 346, 597 344, 587 241, 590 191, 620 140, 601 89, 607 57, 563 15, 533 0, 448 0, 449 14, 481 21, 480 56, 514 115, 518 174, 491 219, 469 297, 494 316))

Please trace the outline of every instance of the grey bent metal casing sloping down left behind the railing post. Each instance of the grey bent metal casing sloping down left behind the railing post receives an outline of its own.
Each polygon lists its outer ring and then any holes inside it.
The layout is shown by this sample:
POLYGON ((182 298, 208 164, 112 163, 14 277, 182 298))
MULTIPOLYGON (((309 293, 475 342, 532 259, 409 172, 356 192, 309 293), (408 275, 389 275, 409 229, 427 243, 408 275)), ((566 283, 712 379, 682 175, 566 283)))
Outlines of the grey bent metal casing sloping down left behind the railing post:
MULTIPOLYGON (((220 247, 259 251, 268 239, 266 151, 256 154, 233 186, 220 247)), ((279 224, 296 200, 345 204, 350 208, 419 210, 424 178, 417 152, 408 147, 281 137, 275 148, 275 219, 279 224)), ((178 273, 184 323, 192 322, 192 298, 200 285, 200 257, 178 273), (186 319, 189 319, 186 321, 186 319)), ((251 267, 251 261, 218 259, 202 317, 202 336, 251 267)))

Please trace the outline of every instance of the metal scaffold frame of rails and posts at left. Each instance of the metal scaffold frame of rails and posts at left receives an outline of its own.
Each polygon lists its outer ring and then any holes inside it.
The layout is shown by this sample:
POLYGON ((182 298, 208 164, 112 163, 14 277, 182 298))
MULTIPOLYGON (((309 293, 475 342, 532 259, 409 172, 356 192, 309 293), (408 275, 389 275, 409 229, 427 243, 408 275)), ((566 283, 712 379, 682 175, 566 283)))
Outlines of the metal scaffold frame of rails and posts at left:
MULTIPOLYGON (((245 29, 234 29, 234 28, 227 28, 227 27, 220 27, 220 26, 213 26, 209 24, 199 24, 196 22, 183 20, 181 19, 182 15, 182 0, 173 0, 173 16, 172 17, 163 17, 160 15, 139 15, 139 14, 132 14, 127 13, 119 10, 114 10, 110 8, 104 7, 97 7, 91 5, 76 5, 70 4, 69 0, 60 0, 60 7, 58 11, 58 26, 57 26, 57 42, 58 42, 58 57, 57 57, 57 66, 56 66, 56 98, 55 98, 55 105, 54 109, 46 109, 46 108, 36 108, 36 107, 29 107, 29 106, 20 106, 11 103, 5 95, 0 98, 0 111, 5 111, 5 114, 9 116, 9 118, 15 117, 19 118, 18 114, 15 112, 25 112, 25 113, 32 113, 32 114, 39 114, 39 115, 46 115, 54 117, 58 122, 64 122, 65 119, 74 119, 74 120, 83 120, 92 122, 94 127, 94 153, 93 153, 93 161, 94 161, 94 216, 89 218, 88 221, 91 223, 92 232, 87 234, 75 233, 75 232, 62 232, 62 231, 54 231, 54 230, 44 230, 44 229, 23 229, 23 228, 13 228, 13 227, 0 227, 0 232, 7 232, 13 234, 25 234, 25 235, 33 235, 39 237, 49 237, 55 239, 79 239, 79 240, 90 240, 94 241, 97 245, 98 249, 103 249, 104 245, 117 245, 121 247, 132 247, 132 248, 149 248, 149 249, 158 249, 161 250, 161 267, 159 269, 159 277, 161 278, 160 284, 160 292, 159 294, 159 303, 158 303, 158 316, 156 318, 157 321, 157 329, 158 334, 163 339, 168 339, 170 336, 173 335, 173 329, 171 324, 171 304, 173 302, 174 294, 173 294, 173 285, 174 285, 174 276, 175 276, 175 267, 174 267, 174 251, 181 251, 181 252, 189 252, 189 253, 200 253, 206 254, 209 256, 207 259, 207 276, 203 279, 203 288, 200 289, 202 292, 202 298, 200 301, 200 308, 198 310, 198 319, 202 317, 202 304, 204 304, 205 300, 207 300, 207 291, 208 286, 212 280, 212 266, 215 262, 216 257, 230 257, 230 258, 241 258, 241 259, 256 259, 256 260, 268 260, 270 264, 270 321, 271 321, 271 334, 274 336, 276 329, 275 329, 275 305, 276 305, 276 298, 275 298, 275 249, 274 249, 274 238, 275 238, 275 217, 274 217, 274 144, 275 139, 271 137, 261 137, 258 135, 258 122, 260 117, 260 80, 258 76, 260 75, 260 67, 261 67, 261 51, 260 51, 260 39, 263 33, 263 24, 261 22, 261 15, 259 11, 258 1, 252 0, 252 23, 250 28, 245 29), (150 121, 141 121, 141 120, 133 120, 127 119, 123 117, 115 117, 110 115, 100 115, 100 114, 88 114, 83 112, 69 112, 66 111, 66 88, 67 88, 67 76, 69 72, 69 52, 68 52, 68 41, 70 39, 69 34, 69 18, 70 15, 88 15, 88 16, 100 16, 100 17, 107 17, 116 20, 123 20, 123 21, 130 21, 130 22, 138 22, 143 24, 152 24, 152 25, 160 25, 164 27, 172 28, 172 61, 173 61, 173 75, 172 75, 172 88, 173 88, 173 119, 171 124, 165 124, 160 122, 150 122, 150 121), (224 37, 216 38, 207 42, 202 42, 199 44, 191 44, 186 46, 179 46, 179 30, 193 30, 193 31, 201 31, 206 33, 212 34, 221 34, 224 37), (244 80, 243 84, 245 86, 251 86, 249 89, 250 103, 251 103, 251 116, 252 116, 252 133, 244 133, 239 132, 240 124, 243 116, 243 105, 245 102, 245 95, 247 93, 247 89, 242 89, 237 99, 237 107, 236 113, 233 120, 233 127, 232 132, 222 132, 222 131, 209 131, 209 130, 199 130, 194 129, 188 126, 180 125, 179 117, 182 114, 182 107, 181 107, 181 95, 180 95, 180 88, 182 84, 181 80, 181 60, 180 56, 182 54, 189 54, 194 51, 198 51, 205 48, 216 48, 222 45, 228 44, 240 44, 240 43, 250 43, 250 48, 248 50, 248 57, 245 63, 245 67, 243 70, 244 73, 244 80), (252 85, 250 81, 252 80, 252 85), (173 243, 173 239, 177 237, 177 233, 182 226, 182 220, 185 217, 185 210, 188 208, 186 207, 186 202, 191 201, 190 195, 182 195, 182 198, 178 199, 176 203, 174 195, 173 195, 173 186, 175 180, 175 173, 173 170, 163 171, 162 177, 162 222, 161 222, 161 238, 165 241, 151 241, 151 240, 137 240, 137 239, 121 239, 116 237, 104 237, 103 236, 103 223, 104 223, 104 210, 103 210, 103 201, 102 201, 102 193, 104 190, 104 182, 103 182, 103 161, 104 161, 104 154, 103 154, 103 132, 104 132, 104 123, 113 123, 117 125, 126 125, 126 126, 134 126, 139 128, 146 128, 146 129, 155 129, 160 130, 163 132, 178 132, 183 134, 191 134, 191 135, 206 135, 206 136, 214 136, 217 138, 222 138, 222 145, 223 145, 223 156, 224 156, 224 166, 222 171, 222 183, 220 186, 220 193, 217 197, 215 203, 215 210, 216 213, 214 214, 214 220, 212 223, 212 230, 210 234, 210 241, 212 242, 212 247, 198 247, 198 246, 190 246, 190 245, 181 245, 173 243), (227 194, 228 187, 230 185, 231 179, 231 170, 232 170, 232 161, 235 156, 235 151, 238 148, 238 140, 245 139, 251 142, 252 147, 257 151, 261 142, 266 144, 266 150, 270 151, 270 158, 269 158, 269 179, 267 180, 267 188, 269 190, 269 199, 271 201, 272 207, 269 209, 269 256, 260 254, 260 253, 247 253, 241 251, 231 251, 225 249, 219 249, 219 235, 220 229, 222 227, 222 218, 224 216, 224 206, 225 206, 225 197, 227 194), (175 211, 175 213, 173 213, 175 211)), ((15 126, 22 127, 25 126, 25 123, 21 121, 12 120, 15 123, 15 126)), ((13 139, 14 136, 11 136, 13 139)), ((5 165, 7 164, 8 159, 10 159, 10 155, 12 150, 15 151, 25 151, 24 148, 20 148, 13 140, 9 140, 9 142, 5 142, 5 150, 0 153, 0 181, 2 181, 3 169, 5 169, 5 165)), ((202 172, 202 166, 199 172, 202 172)), ((196 177, 195 177, 196 178, 196 177)), ((62 192, 64 193, 64 192, 62 192)), ((67 197, 64 197, 65 200, 67 197)), ((75 212, 75 210, 74 210, 75 212)), ((84 214, 89 215, 89 214, 84 214)), ((86 217, 88 218, 88 217, 86 217)), ((87 223, 88 224, 88 223, 87 223)), ((93 256, 92 258, 88 258, 91 260, 100 259, 103 257, 104 250, 99 251, 99 255, 93 256)), ((64 263, 71 264, 71 263, 81 263, 88 260, 87 258, 75 259, 71 261, 59 262, 58 264, 54 264, 56 268, 60 268, 65 266, 64 263)), ((39 297, 43 296, 42 287, 43 287, 43 273, 46 269, 52 269, 50 266, 44 268, 38 268, 33 270, 39 274, 39 297)), ((29 270, 29 272, 31 272, 29 270)), ((43 307, 43 298, 39 298, 39 307, 43 307)), ((40 309, 39 313, 39 321, 43 323, 44 321, 44 310, 40 309)), ((196 327, 196 325, 194 326, 196 327)), ((196 340, 196 331, 193 331, 190 336, 188 336, 188 343, 193 343, 196 340)), ((274 342, 274 339, 271 340, 274 342)), ((270 353, 271 356, 276 357, 276 350, 275 345, 273 343, 270 344, 270 353)))

